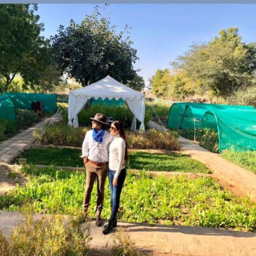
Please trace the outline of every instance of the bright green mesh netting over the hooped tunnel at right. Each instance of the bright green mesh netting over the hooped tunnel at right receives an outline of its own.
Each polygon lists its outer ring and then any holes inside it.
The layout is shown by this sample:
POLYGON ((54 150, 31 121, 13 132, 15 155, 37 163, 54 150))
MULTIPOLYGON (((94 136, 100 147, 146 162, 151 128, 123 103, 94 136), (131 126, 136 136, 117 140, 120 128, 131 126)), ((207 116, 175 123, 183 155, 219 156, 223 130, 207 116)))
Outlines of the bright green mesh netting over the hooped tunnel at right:
POLYGON ((218 131, 220 152, 233 147, 237 151, 256 149, 256 110, 252 106, 204 103, 174 103, 167 128, 211 128, 218 131))

